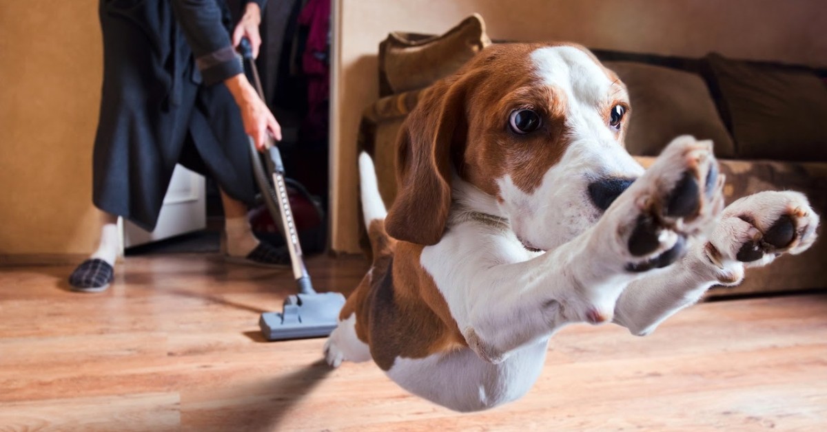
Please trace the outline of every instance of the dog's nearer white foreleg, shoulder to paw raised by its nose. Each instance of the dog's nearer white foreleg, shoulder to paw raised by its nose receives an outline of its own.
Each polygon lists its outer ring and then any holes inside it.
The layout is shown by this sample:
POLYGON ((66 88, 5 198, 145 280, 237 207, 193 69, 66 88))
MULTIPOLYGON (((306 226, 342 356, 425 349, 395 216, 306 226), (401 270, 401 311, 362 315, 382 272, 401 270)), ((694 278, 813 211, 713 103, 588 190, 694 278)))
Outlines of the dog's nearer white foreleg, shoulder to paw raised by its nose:
POLYGON ((450 287, 442 293, 466 342, 496 363, 567 323, 612 320, 630 282, 673 263, 709 230, 723 208, 721 189, 710 143, 681 137, 596 225, 557 249, 501 263, 491 251, 508 242, 479 240, 459 225, 432 256, 424 249, 423 263, 439 287, 450 287), (462 268, 442 263, 447 256, 462 257, 462 268))

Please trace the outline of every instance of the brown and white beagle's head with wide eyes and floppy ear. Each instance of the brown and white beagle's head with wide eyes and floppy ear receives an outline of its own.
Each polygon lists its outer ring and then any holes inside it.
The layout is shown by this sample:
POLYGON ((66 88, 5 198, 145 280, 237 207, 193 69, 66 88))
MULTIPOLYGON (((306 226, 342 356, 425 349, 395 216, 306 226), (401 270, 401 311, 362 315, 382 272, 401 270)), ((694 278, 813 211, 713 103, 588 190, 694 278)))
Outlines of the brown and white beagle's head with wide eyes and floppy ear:
POLYGON ((597 221, 643 169, 624 150, 629 96, 577 45, 492 45, 433 85, 400 131, 398 196, 385 228, 436 244, 452 171, 495 197, 528 249, 597 221))

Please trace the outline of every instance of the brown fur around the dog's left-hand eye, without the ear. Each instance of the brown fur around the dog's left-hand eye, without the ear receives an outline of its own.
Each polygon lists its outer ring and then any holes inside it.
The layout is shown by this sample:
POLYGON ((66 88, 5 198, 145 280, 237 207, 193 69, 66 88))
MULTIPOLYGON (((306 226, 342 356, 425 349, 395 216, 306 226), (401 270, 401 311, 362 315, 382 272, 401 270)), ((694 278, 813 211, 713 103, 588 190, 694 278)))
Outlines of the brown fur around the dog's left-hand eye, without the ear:
POLYGON ((486 74, 467 108, 468 144, 460 173, 490 195, 498 195, 495 180, 506 175, 532 192, 566 151, 566 94, 541 83, 530 57, 543 46, 548 45, 492 46, 476 62, 486 74), (523 109, 536 112, 542 125, 519 135, 509 117, 523 109))

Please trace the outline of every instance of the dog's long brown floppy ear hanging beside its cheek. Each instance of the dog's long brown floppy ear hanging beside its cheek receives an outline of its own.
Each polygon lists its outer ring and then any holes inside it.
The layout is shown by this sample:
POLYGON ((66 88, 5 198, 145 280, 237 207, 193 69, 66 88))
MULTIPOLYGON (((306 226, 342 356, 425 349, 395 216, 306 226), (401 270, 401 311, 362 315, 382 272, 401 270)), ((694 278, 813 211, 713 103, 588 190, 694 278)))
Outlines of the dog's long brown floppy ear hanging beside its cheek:
POLYGON ((465 147, 466 85, 443 80, 429 88, 396 141, 397 196, 385 230, 398 240, 437 244, 451 207, 452 154, 465 147))

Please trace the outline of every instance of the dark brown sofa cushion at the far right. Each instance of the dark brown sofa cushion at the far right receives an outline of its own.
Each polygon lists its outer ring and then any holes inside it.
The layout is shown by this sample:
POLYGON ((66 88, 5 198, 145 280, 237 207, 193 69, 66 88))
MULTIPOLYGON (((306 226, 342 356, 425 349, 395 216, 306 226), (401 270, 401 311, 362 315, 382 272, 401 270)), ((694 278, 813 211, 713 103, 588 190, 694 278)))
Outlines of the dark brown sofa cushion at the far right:
POLYGON ((739 158, 827 160, 827 86, 815 74, 717 54, 703 69, 739 158))

